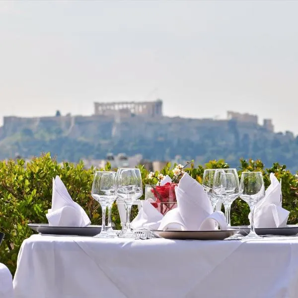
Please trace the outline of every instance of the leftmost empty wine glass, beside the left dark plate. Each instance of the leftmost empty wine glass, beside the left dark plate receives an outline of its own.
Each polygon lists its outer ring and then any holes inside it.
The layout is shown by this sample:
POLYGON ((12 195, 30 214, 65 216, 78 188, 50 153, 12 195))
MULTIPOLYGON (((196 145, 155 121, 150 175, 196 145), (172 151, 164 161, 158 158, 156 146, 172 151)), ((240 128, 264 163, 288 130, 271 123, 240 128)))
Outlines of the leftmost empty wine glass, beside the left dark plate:
POLYGON ((102 210, 102 224, 101 231, 99 234, 94 237, 97 238, 112 238, 113 235, 110 235, 106 231, 105 226, 105 214, 106 208, 109 204, 112 204, 116 200, 116 173, 115 172, 104 172, 97 171, 95 172, 91 196, 96 200, 102 210))

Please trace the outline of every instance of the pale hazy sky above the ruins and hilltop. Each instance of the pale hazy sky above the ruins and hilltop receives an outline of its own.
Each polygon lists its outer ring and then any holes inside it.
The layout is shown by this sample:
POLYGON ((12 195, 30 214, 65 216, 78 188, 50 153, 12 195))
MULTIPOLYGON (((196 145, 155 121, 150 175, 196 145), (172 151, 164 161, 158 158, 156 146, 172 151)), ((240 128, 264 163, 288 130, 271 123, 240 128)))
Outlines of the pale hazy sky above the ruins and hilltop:
MULTIPOLYGON (((163 100, 298 134, 298 1, 0 1, 0 118, 163 100)), ((1 123, 1 122, 0 122, 1 123)))

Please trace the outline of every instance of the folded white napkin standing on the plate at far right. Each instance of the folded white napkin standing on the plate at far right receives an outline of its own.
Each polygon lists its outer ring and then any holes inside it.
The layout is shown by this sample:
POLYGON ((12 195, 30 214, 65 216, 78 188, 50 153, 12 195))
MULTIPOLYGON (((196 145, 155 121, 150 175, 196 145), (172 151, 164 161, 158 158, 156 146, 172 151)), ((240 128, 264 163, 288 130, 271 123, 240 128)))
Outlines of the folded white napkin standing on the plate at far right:
POLYGON ((274 173, 270 174, 270 181, 265 198, 255 207, 255 227, 285 227, 288 222, 290 212, 282 208, 282 186, 274 173))

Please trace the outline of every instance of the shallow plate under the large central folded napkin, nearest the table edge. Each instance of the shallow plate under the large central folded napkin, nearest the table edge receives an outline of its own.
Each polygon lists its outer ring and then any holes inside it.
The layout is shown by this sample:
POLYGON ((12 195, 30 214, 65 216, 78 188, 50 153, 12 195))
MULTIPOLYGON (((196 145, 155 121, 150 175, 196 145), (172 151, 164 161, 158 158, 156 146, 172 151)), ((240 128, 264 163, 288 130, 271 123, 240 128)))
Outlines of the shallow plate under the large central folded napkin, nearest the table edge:
POLYGON ((165 239, 180 239, 180 240, 224 240, 236 233, 239 232, 237 229, 229 230, 214 230, 214 231, 152 231, 154 234, 157 234, 159 237, 165 239))

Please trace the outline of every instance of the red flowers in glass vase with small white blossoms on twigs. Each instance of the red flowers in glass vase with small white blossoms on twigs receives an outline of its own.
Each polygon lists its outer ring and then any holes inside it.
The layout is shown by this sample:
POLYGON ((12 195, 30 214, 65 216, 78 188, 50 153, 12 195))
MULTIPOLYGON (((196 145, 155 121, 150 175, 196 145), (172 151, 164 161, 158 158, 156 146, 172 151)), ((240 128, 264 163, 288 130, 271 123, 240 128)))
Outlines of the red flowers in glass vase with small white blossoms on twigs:
POLYGON ((156 186, 151 186, 151 193, 154 195, 154 202, 151 202, 162 215, 165 215, 169 210, 177 207, 175 187, 178 185, 180 179, 185 173, 185 167, 194 160, 188 161, 185 166, 182 164, 176 165, 172 169, 172 181, 161 185, 162 180, 165 176, 162 173, 150 172, 148 175, 149 180, 157 180, 156 186))

